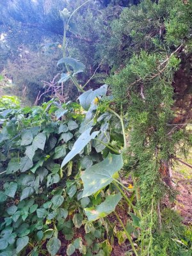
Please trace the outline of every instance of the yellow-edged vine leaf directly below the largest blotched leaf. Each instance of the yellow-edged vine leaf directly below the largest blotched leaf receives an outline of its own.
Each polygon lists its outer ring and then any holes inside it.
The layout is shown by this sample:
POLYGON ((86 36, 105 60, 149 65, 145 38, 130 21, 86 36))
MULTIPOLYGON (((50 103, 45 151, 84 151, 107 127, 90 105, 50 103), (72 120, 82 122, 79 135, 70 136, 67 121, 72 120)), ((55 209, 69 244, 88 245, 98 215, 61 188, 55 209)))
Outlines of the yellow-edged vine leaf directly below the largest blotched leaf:
POLYGON ((95 221, 99 218, 104 218, 108 216, 108 214, 115 211, 115 207, 121 199, 122 195, 120 193, 116 195, 109 195, 106 200, 100 205, 85 208, 84 212, 88 218, 88 221, 95 221))

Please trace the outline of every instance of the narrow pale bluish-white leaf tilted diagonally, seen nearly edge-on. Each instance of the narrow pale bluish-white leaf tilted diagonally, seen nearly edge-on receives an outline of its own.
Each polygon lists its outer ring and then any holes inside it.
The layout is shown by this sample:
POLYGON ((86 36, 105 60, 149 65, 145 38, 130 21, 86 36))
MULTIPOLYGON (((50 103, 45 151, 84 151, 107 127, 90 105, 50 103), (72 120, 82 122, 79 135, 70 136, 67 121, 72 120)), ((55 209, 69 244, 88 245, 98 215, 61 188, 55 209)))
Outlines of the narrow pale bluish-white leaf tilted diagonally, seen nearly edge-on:
POLYGON ((97 136, 99 132, 90 132, 92 131, 92 128, 87 129, 79 136, 79 138, 74 143, 74 146, 72 147, 72 150, 67 154, 67 156, 64 158, 63 163, 61 164, 61 168, 65 166, 74 156, 79 154, 81 150, 92 140, 97 136))

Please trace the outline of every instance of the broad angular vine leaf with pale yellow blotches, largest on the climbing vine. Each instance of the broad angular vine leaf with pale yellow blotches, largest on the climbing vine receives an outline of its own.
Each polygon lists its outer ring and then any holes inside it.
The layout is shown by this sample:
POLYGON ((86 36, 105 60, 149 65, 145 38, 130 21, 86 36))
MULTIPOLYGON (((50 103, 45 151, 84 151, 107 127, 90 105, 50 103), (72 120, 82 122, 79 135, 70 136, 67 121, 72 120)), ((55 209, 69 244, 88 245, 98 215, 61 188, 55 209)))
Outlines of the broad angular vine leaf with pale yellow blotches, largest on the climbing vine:
POLYGON ((99 189, 106 187, 113 181, 113 176, 124 165, 122 154, 110 154, 102 162, 86 169, 81 175, 83 180, 84 190, 83 196, 90 196, 99 189))

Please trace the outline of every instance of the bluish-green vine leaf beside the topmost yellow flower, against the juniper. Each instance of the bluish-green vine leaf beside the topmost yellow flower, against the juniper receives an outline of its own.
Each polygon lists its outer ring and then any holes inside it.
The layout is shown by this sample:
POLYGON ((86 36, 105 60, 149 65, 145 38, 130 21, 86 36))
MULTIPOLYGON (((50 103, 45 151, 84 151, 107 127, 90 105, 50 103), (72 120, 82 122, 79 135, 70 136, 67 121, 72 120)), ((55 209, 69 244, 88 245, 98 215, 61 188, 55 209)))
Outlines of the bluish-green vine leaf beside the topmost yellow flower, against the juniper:
POLYGON ((108 85, 104 84, 100 86, 97 90, 93 91, 93 89, 90 89, 83 94, 81 94, 78 98, 81 106, 85 109, 88 110, 90 108, 90 105, 92 101, 99 96, 105 96, 108 90, 108 85))

